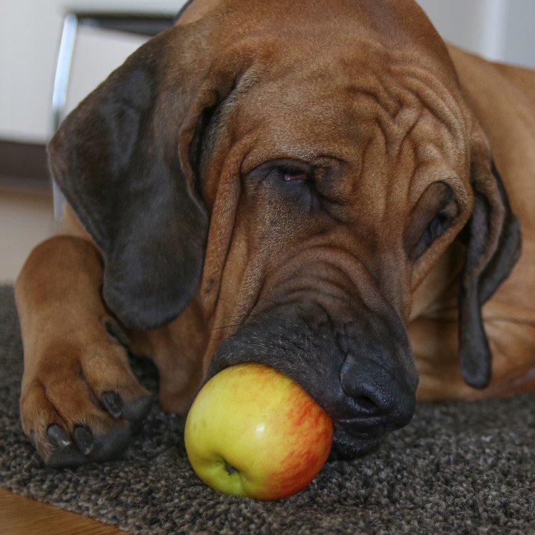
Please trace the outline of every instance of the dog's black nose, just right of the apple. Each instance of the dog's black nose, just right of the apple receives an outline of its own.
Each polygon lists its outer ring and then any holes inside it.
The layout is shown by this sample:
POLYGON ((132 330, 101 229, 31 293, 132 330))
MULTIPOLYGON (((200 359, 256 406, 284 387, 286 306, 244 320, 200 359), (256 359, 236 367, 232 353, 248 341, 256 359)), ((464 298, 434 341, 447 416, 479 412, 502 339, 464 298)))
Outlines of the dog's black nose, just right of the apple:
POLYGON ((342 365, 340 382, 349 398, 343 422, 350 432, 392 431, 406 426, 413 417, 415 388, 404 380, 401 370, 390 371, 369 356, 349 354, 342 365))

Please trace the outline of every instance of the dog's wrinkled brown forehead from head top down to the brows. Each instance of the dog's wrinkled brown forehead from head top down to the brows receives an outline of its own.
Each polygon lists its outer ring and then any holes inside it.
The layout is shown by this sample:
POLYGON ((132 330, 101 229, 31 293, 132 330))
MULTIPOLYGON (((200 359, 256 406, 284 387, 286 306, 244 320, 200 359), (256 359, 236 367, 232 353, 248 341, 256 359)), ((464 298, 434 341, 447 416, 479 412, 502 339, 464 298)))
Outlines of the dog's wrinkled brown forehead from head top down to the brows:
POLYGON ((382 184, 421 175, 416 196, 434 179, 466 177, 470 118, 414 1, 229 0, 214 10, 216 56, 247 58, 221 113, 233 115, 235 141, 251 140, 244 173, 270 159, 333 157, 345 176, 382 184))

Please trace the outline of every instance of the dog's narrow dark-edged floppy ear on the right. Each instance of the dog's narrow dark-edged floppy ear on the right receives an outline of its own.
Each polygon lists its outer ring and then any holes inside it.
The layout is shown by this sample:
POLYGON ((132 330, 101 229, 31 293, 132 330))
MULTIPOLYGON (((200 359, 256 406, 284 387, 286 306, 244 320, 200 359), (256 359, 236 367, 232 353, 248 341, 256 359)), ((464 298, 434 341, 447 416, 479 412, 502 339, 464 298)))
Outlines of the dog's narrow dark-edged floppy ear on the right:
POLYGON ((491 354, 481 306, 509 275, 520 255, 520 223, 511 212, 502 179, 479 125, 472 135, 474 208, 468 223, 468 253, 459 293, 459 358, 474 388, 490 382, 491 354))

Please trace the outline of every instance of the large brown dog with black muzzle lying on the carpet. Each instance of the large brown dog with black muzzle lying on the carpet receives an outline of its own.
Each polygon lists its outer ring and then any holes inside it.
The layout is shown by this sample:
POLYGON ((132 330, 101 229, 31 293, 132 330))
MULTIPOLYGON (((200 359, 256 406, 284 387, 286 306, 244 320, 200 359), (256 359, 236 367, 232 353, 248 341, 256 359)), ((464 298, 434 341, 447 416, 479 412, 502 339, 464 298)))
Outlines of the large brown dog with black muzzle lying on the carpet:
POLYGON ((410 421, 417 372, 422 399, 535 387, 535 74, 448 50, 412 0, 195 0, 49 150, 68 205, 16 298, 51 465, 126 447, 126 344, 179 413, 272 365, 346 454, 410 421))

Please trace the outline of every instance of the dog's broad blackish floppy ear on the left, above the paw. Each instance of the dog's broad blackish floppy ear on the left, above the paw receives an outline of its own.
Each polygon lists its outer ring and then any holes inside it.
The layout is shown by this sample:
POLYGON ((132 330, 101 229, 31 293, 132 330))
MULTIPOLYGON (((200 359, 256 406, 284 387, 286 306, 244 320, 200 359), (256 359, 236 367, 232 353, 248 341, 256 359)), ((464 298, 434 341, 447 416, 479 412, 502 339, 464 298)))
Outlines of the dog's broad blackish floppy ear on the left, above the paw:
POLYGON ((216 91, 178 40, 170 29, 138 49, 49 145, 52 175, 104 257, 104 301, 142 329, 184 310, 207 235, 195 166, 216 91))

